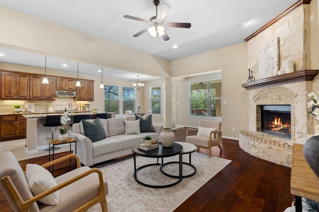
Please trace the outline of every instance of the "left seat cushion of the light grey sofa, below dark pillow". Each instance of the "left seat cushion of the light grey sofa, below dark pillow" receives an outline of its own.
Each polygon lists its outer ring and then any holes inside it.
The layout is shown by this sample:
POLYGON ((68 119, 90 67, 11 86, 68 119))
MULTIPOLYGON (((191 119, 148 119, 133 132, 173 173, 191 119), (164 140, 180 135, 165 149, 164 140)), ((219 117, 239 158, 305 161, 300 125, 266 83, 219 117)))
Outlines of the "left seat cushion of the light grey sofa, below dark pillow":
MULTIPOLYGON (((124 136, 124 135, 123 135, 124 136)), ((93 143, 93 156, 121 150, 122 143, 114 137, 108 137, 93 143)))

